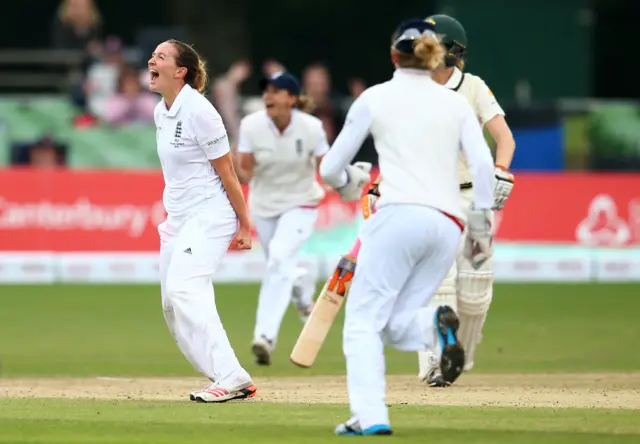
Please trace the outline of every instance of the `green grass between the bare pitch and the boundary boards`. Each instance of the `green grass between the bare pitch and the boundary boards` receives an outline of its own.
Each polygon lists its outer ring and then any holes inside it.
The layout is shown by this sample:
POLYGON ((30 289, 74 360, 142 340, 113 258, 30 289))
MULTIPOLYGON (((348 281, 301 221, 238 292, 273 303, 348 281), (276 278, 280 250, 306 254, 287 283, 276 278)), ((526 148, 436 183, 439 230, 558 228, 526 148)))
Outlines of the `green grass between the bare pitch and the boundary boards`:
MULTIPOLYGON (((582 372, 640 369, 637 285, 500 285, 477 360, 478 372, 582 372)), ((0 288, 0 362, 4 376, 194 374, 165 327, 155 286, 0 288)), ((257 287, 217 288, 225 328, 256 375, 343 374, 340 318, 313 369, 288 354, 301 325, 287 314, 274 365, 249 353, 257 287)), ((390 373, 413 373, 411 353, 388 353, 390 373)))

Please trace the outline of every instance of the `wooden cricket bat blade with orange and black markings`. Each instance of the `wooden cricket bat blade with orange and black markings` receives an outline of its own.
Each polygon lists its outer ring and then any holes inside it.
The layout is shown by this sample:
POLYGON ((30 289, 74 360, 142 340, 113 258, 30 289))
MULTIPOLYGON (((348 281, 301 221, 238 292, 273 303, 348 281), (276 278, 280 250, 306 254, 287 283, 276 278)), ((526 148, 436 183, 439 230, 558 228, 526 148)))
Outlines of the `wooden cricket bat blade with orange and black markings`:
POLYGON ((333 275, 322 287, 311 315, 289 356, 295 365, 309 368, 315 362, 331 325, 344 303, 344 298, 349 293, 355 270, 355 255, 347 254, 340 258, 333 275))

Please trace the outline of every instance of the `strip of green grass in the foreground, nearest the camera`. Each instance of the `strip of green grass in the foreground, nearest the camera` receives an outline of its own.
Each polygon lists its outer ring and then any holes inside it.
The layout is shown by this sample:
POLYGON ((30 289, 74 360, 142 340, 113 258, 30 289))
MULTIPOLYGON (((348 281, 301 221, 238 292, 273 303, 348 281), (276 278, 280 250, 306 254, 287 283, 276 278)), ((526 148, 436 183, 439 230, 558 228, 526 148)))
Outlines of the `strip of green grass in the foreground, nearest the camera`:
MULTIPOLYGON (((347 414, 346 406, 339 405, 9 400, 0 409, 0 443, 27 442, 25 436, 32 443, 61 444, 324 443, 337 439, 332 430, 347 414)), ((391 420, 397 434, 391 440, 397 442, 640 440, 638 414, 630 411, 394 406, 391 420)))

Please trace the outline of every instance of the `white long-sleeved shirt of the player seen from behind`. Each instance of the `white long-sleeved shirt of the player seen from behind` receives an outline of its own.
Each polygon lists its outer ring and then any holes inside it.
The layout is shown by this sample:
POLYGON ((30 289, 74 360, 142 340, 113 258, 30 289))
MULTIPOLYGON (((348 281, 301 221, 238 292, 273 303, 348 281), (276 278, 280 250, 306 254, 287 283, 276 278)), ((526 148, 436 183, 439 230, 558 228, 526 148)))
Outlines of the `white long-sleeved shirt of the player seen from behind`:
POLYGON ((398 69, 390 81, 355 100, 320 165, 327 183, 345 184, 344 168, 368 133, 383 177, 378 207, 425 205, 465 221, 458 177, 461 149, 474 181, 475 208, 493 206, 493 160, 473 109, 427 71, 398 69))

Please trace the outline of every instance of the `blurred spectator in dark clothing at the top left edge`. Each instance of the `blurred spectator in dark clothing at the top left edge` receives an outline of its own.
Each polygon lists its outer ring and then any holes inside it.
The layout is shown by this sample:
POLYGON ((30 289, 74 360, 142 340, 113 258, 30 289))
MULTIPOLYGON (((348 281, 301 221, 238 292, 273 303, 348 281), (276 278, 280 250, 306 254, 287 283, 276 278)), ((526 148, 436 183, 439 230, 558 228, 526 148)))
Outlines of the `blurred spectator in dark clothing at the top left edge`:
POLYGON ((102 23, 93 0, 63 0, 53 22, 52 34, 54 49, 77 49, 97 56, 102 23))

